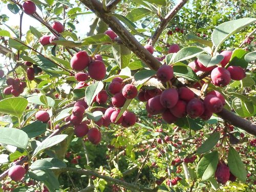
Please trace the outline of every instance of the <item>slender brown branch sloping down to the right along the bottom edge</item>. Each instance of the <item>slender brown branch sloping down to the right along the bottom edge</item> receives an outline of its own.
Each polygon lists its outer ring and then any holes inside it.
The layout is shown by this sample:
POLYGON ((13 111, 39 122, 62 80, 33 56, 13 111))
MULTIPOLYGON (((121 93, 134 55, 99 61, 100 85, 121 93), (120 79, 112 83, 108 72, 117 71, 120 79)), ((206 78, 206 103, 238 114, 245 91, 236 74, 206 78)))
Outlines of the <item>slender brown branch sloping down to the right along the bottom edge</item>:
POLYGON ((61 172, 73 172, 73 173, 78 173, 78 174, 82 174, 82 175, 89 175, 89 176, 95 176, 97 178, 100 179, 104 179, 105 181, 108 182, 113 182, 116 183, 118 185, 121 185, 127 189, 131 189, 132 191, 148 191, 148 192, 152 192, 152 191, 157 191, 158 188, 154 188, 154 189, 150 189, 150 188, 144 188, 142 186, 139 185, 135 185, 135 184, 131 184, 131 183, 127 183, 125 181, 121 181, 119 179, 115 179, 109 176, 105 176, 105 175, 101 175, 98 172, 94 172, 93 170, 88 170, 88 169, 81 169, 81 168, 73 168, 73 167, 67 167, 67 168, 62 168, 60 169, 61 172))

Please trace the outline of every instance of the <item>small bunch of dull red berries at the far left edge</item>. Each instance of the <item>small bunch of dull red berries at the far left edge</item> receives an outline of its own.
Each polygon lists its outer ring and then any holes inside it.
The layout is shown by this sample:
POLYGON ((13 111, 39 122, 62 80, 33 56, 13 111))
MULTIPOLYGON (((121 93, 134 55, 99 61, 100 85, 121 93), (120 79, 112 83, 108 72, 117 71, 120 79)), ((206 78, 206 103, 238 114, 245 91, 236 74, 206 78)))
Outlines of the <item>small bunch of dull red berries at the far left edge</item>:
POLYGON ((8 87, 6 87, 3 91, 5 95, 13 95, 15 97, 19 96, 23 93, 24 89, 27 87, 26 82, 20 81, 19 78, 8 78, 6 80, 8 87))

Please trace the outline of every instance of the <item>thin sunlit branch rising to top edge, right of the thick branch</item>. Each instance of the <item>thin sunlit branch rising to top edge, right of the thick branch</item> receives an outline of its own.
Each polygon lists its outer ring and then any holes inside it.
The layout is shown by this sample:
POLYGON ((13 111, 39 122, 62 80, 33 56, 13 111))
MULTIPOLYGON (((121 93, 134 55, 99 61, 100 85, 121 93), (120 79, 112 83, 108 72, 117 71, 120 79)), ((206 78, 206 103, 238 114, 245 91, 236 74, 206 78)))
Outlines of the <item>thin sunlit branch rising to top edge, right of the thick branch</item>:
POLYGON ((188 2, 188 0, 181 0, 170 12, 164 17, 164 19, 160 22, 160 25, 158 26, 156 32, 151 37, 150 42, 148 44, 151 44, 154 46, 160 37, 163 30, 166 28, 170 20, 174 18, 174 16, 178 13, 178 11, 188 2))

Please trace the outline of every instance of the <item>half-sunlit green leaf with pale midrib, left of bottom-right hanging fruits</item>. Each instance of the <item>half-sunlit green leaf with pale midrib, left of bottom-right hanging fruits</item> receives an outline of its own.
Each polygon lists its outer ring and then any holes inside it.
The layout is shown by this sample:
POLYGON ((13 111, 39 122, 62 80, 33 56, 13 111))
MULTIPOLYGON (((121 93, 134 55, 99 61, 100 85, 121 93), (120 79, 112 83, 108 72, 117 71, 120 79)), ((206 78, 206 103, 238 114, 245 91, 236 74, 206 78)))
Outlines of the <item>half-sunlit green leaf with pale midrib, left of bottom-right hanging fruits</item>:
POLYGON ((217 151, 204 155, 197 164, 197 176, 202 178, 202 181, 209 179, 216 171, 218 160, 217 151))

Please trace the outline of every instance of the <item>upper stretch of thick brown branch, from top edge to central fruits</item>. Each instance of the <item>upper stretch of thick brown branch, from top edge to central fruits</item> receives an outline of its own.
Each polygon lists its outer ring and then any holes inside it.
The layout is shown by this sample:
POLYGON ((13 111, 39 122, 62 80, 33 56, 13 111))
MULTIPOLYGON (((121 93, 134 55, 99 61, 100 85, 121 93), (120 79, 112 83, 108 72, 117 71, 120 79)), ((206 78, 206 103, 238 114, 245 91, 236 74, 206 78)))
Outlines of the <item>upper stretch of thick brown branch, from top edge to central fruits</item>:
POLYGON ((148 52, 139 41, 120 23, 111 13, 103 9, 102 4, 96 0, 80 0, 85 6, 91 9, 98 17, 103 20, 120 37, 124 46, 132 50, 148 67, 157 70, 161 63, 148 52))

